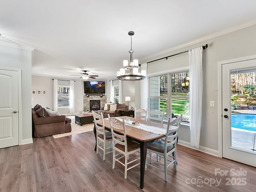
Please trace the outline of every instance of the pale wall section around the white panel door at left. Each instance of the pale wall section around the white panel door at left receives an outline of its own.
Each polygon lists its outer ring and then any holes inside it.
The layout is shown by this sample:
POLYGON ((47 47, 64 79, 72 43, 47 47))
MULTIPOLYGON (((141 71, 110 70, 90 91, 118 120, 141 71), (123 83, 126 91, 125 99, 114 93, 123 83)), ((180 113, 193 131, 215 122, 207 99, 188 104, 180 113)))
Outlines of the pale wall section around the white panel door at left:
POLYGON ((32 66, 32 50, 14 44, 0 42, 0 67, 21 69, 21 108, 19 113, 21 117, 22 132, 19 140, 20 144, 32 143, 32 120, 31 120, 31 66, 32 66))

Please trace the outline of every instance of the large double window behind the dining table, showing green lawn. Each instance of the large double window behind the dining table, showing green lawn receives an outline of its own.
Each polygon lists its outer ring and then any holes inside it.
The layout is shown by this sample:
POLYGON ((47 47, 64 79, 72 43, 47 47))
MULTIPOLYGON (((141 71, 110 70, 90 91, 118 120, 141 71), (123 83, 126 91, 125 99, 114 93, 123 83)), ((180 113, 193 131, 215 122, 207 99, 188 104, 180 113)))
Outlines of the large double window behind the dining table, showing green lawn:
POLYGON ((182 116, 189 122, 189 72, 176 72, 149 78, 150 111, 164 110, 164 120, 182 116))

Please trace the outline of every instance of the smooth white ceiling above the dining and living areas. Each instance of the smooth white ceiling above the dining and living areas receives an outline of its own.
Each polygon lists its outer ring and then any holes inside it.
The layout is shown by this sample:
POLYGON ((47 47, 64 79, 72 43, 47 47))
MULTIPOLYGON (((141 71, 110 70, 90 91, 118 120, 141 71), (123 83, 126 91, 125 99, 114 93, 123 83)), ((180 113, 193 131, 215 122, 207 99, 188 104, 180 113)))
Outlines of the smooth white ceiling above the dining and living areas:
POLYGON ((97 79, 129 60, 256 19, 256 0, 0 0, 0 41, 34 48, 32 74, 97 79))

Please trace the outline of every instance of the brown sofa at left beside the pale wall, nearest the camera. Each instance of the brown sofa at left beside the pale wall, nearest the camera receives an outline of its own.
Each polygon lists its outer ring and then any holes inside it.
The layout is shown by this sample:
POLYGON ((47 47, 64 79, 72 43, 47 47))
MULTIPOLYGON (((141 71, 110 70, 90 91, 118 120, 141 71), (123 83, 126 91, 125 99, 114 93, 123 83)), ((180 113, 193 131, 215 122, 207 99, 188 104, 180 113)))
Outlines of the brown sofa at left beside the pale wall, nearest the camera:
POLYGON ((64 115, 48 116, 44 108, 32 108, 32 134, 35 138, 71 132, 71 119, 64 115), (38 112, 39 111, 39 112, 38 112))

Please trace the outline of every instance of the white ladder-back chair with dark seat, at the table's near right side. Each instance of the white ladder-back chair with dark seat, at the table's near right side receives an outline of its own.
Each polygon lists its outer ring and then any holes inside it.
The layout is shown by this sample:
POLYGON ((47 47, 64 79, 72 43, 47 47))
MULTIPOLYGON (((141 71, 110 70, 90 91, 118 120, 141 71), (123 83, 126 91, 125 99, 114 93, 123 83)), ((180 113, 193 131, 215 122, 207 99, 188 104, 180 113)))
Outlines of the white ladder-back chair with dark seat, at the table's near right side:
POLYGON ((177 171, 176 151, 177 151, 177 138, 178 138, 178 132, 180 128, 181 118, 182 118, 182 115, 176 119, 177 126, 175 129, 172 129, 172 130, 169 130, 170 128, 170 118, 169 118, 167 129, 166 129, 166 136, 164 140, 157 140, 155 142, 148 144, 148 152, 150 154, 150 157, 147 158, 145 169, 147 168, 147 165, 148 165, 164 172, 165 181, 168 181, 167 168, 171 164, 174 164, 174 170, 177 171), (157 154, 158 157, 163 158, 164 163, 159 162, 158 160, 153 160, 152 154, 157 154), (150 163, 148 163, 148 160, 150 163), (159 166, 153 165, 152 162, 159 164, 161 166, 164 166, 164 169, 160 168, 159 166))

